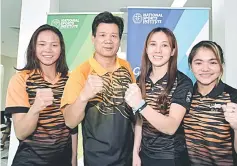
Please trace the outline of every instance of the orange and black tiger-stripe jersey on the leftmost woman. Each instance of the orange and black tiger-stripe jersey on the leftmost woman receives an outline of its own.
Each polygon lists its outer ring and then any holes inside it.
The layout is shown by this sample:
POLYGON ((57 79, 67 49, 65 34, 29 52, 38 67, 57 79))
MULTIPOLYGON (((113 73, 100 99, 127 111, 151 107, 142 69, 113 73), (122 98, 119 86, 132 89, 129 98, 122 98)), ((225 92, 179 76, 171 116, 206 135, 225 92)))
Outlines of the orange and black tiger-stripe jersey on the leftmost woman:
POLYGON ((13 166, 71 165, 71 130, 65 125, 60 111, 61 96, 68 76, 60 77, 55 84, 43 79, 38 71, 21 71, 10 80, 5 114, 27 113, 33 105, 36 90, 51 88, 53 104, 40 111, 34 132, 24 140, 13 160, 13 166))

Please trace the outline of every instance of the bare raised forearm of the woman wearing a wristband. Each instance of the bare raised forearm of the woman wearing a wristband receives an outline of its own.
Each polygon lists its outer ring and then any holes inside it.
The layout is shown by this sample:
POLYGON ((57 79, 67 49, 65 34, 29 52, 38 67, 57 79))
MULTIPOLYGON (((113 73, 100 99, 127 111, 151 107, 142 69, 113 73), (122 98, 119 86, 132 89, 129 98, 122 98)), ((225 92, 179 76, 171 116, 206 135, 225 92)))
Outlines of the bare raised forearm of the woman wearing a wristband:
POLYGON ((173 135, 179 126, 174 118, 157 112, 149 105, 144 108, 141 114, 157 130, 168 135, 173 135))

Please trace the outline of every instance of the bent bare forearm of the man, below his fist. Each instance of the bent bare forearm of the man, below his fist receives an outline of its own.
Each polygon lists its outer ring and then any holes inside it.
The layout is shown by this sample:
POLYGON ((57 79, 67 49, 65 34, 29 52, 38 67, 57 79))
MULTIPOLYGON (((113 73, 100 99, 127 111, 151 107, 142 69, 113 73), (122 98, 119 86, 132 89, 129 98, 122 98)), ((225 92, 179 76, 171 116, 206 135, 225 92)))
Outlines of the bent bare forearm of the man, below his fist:
POLYGON ((67 105, 64 110, 65 123, 70 128, 75 128, 85 116, 85 108, 87 100, 83 100, 80 96, 70 105, 67 105))

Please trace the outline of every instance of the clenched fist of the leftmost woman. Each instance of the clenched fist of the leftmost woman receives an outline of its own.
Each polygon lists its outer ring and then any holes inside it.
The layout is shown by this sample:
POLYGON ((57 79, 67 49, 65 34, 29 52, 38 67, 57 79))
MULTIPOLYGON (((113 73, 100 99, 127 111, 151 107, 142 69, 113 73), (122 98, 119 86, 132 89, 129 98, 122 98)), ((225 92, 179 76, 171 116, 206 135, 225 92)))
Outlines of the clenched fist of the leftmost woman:
POLYGON ((35 101, 32 107, 35 113, 38 113, 45 109, 47 106, 53 104, 53 91, 51 88, 37 89, 35 101))

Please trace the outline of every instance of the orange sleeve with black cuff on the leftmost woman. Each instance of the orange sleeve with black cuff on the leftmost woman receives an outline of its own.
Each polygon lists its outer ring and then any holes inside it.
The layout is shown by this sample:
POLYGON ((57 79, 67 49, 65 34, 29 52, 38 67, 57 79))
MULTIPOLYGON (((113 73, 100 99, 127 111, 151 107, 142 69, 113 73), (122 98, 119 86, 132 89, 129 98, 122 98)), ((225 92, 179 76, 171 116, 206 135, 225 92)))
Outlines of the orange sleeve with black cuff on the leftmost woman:
POLYGON ((26 77, 23 72, 16 73, 8 84, 5 114, 11 117, 13 113, 27 113, 30 108, 26 92, 26 77))

